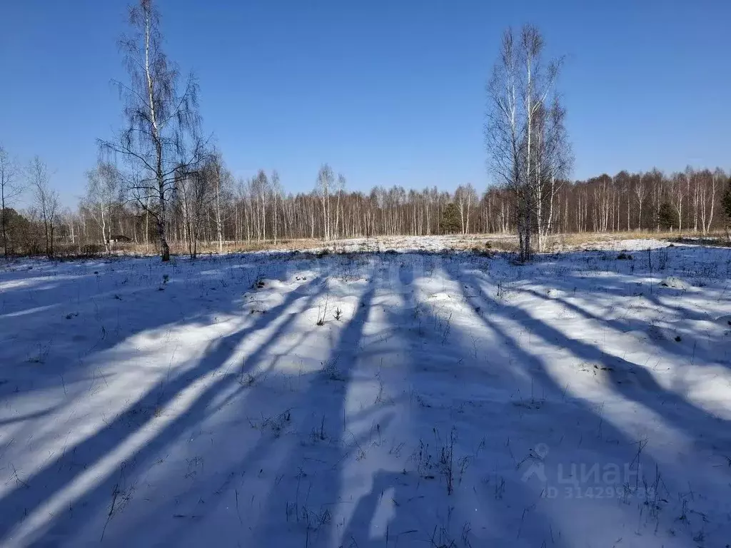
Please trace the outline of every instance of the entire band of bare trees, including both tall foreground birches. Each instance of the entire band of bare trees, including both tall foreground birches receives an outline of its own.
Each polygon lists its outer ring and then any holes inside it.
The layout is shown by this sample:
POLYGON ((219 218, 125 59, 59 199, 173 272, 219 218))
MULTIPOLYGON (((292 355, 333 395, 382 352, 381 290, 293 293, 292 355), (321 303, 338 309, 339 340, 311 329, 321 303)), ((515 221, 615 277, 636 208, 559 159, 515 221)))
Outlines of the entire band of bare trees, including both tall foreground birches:
POLYGON ((196 256, 202 243, 379 235, 517 233, 520 256, 542 251, 559 232, 667 230, 707 234, 731 216, 731 180, 716 167, 665 174, 621 171, 570 180, 572 151, 557 91, 562 59, 545 62, 539 30, 505 31, 488 82, 485 145, 495 183, 454 192, 376 186, 350 191, 323 164, 311 192, 284 190, 279 174, 236 179, 202 134, 198 84, 184 80, 162 49, 153 0, 129 10, 121 39, 129 78, 118 81, 126 125, 98 141, 77 208, 62 209, 38 157, 21 168, 0 146, 0 214, 4 254, 112 251, 120 242, 154 243, 163 260, 170 243, 196 256), (32 205, 14 209, 23 191, 32 205))

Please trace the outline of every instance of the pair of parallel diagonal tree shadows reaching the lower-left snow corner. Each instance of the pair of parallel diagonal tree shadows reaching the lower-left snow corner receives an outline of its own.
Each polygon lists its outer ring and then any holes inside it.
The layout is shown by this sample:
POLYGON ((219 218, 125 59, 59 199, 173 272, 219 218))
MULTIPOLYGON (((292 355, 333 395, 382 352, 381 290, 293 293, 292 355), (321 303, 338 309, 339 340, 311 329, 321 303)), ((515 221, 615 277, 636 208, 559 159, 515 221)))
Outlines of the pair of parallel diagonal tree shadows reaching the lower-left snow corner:
MULTIPOLYGON (((306 287, 314 288, 317 278, 306 283, 306 287)), ((115 419, 107 422, 98 432, 84 439, 75 446, 67 447, 61 456, 48 465, 42 466, 32 476, 18 480, 14 487, 0 498, 0 539, 6 538, 15 525, 47 501, 56 496, 63 497, 64 490, 74 482, 86 481, 83 478, 87 468, 103 463, 106 457, 116 450, 132 445, 132 449, 124 454, 121 468, 118 466, 102 466, 102 476, 94 478, 94 487, 83 492, 73 505, 65 511, 53 515, 50 525, 42 533, 39 545, 55 544, 75 531, 80 523, 86 520, 88 509, 108 506, 115 492, 120 476, 131 476, 140 467, 151 465, 151 457, 164 449, 173 439, 189 430, 200 421, 208 411, 208 405, 221 391, 235 385, 245 373, 240 368, 231 368, 224 373, 212 376, 226 364, 235 347, 249 335, 265 329, 270 322, 277 319, 280 313, 287 311, 295 300, 305 298, 311 302, 317 292, 303 297, 298 291, 290 292, 281 305, 260 316, 250 327, 232 332, 230 335, 213 342, 205 355, 193 368, 185 370, 181 375, 160 381, 145 393, 133 406, 127 408, 115 419), (200 385, 202 388, 199 388, 200 385), (164 415, 157 416, 156 410, 164 409, 186 391, 198 392, 193 396, 189 408, 174 419, 166 421, 164 415), (156 423, 163 422, 159 427, 156 423), (144 435, 151 429, 154 435, 142 443, 135 444, 138 435, 144 435), (157 430, 157 431, 155 431, 157 430)), ((276 339, 276 334, 273 335, 276 339)))

